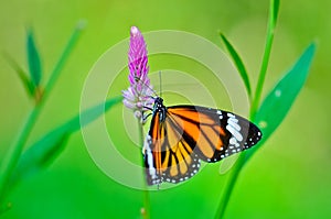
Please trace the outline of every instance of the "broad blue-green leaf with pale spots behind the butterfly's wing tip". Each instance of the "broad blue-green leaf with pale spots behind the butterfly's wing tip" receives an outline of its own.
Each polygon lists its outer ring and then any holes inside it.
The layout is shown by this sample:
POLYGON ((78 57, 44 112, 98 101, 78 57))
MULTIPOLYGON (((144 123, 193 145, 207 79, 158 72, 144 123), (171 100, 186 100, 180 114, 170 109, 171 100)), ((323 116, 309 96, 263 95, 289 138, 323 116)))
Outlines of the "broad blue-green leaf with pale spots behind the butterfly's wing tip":
POLYGON ((314 51, 316 44, 312 43, 263 101, 255 116, 255 123, 261 129, 263 139, 258 145, 247 151, 247 157, 250 157, 267 141, 285 119, 305 85, 314 51))

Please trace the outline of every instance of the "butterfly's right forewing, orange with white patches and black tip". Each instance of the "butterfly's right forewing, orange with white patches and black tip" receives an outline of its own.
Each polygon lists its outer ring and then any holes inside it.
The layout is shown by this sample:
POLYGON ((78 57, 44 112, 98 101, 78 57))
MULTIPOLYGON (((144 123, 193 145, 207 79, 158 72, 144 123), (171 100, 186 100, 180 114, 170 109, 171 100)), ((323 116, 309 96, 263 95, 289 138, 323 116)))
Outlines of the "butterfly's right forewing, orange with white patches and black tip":
POLYGON ((261 132, 254 123, 232 112, 195 106, 173 106, 168 108, 168 113, 184 121, 184 132, 194 133, 194 153, 205 162, 217 162, 249 149, 261 138, 261 132), (191 132, 193 127, 199 133, 191 132))

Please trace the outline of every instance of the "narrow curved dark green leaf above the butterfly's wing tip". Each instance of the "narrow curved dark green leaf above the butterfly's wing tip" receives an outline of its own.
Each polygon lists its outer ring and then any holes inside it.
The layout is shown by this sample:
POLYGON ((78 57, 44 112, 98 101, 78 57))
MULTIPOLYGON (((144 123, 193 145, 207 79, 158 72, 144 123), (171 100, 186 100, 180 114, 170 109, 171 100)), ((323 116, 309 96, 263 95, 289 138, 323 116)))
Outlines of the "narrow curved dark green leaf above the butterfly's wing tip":
POLYGON ((229 43, 229 41, 225 37, 225 35, 223 35, 222 33, 220 33, 221 39, 223 40, 227 51, 229 52, 232 59, 235 62, 235 65, 244 80, 244 84, 246 86, 247 89, 247 94, 249 96, 249 98, 252 97, 252 89, 250 89, 250 83, 249 83, 249 78, 248 78, 248 74, 247 70, 245 68, 245 65, 241 58, 241 56, 238 55, 238 53, 236 52, 236 50, 233 47, 233 45, 229 43))

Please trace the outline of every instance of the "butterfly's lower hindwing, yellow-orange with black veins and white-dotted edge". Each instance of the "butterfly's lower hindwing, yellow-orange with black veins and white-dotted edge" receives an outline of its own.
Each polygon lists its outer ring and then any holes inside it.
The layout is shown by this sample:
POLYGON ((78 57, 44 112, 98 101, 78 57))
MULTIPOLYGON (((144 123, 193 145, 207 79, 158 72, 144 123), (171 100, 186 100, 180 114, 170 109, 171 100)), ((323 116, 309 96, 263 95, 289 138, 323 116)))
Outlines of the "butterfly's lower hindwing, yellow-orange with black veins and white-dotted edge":
POLYGON ((145 166, 149 185, 161 182, 179 183, 195 175, 200 160, 180 127, 173 129, 172 117, 160 123, 156 114, 145 142, 145 166))

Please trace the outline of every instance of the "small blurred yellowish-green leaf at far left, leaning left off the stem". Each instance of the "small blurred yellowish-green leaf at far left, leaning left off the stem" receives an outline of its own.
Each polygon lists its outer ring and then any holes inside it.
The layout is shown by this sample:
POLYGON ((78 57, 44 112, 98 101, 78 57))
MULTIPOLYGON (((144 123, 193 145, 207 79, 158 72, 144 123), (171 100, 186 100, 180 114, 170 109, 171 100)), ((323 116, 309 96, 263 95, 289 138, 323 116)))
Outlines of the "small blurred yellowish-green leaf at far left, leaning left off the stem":
POLYGON ((32 97, 34 95, 34 86, 31 83, 31 80, 28 78, 26 76, 28 74, 10 55, 3 54, 3 56, 9 63, 9 65, 13 68, 13 70, 18 74, 29 96, 32 97))

